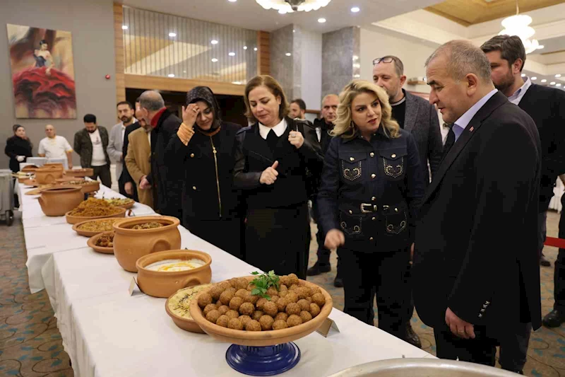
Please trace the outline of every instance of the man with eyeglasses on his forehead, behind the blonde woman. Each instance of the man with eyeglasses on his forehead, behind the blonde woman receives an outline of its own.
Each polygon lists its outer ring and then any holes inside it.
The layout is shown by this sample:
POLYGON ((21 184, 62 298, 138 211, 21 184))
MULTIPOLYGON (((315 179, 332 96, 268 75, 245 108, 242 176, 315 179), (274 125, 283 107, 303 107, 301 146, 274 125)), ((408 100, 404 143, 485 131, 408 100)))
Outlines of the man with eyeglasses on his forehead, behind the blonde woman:
MULTIPOLYGON (((434 178, 444 145, 436 108, 424 98, 405 91, 402 87, 406 81, 404 64, 398 57, 386 55, 373 60, 373 81, 388 94, 392 116, 400 124, 400 128, 410 131, 416 140, 420 153, 420 166, 424 169, 425 182, 434 178), (429 168, 428 168, 429 164, 429 168), (432 176, 430 177, 430 171, 432 176)), ((407 253, 409 250, 407 250, 407 253)), ((410 265, 406 267, 405 279, 410 281, 410 265)), ((410 318, 414 313, 412 299, 406 303, 406 339, 416 347, 422 347, 420 337, 412 330, 410 318)))

